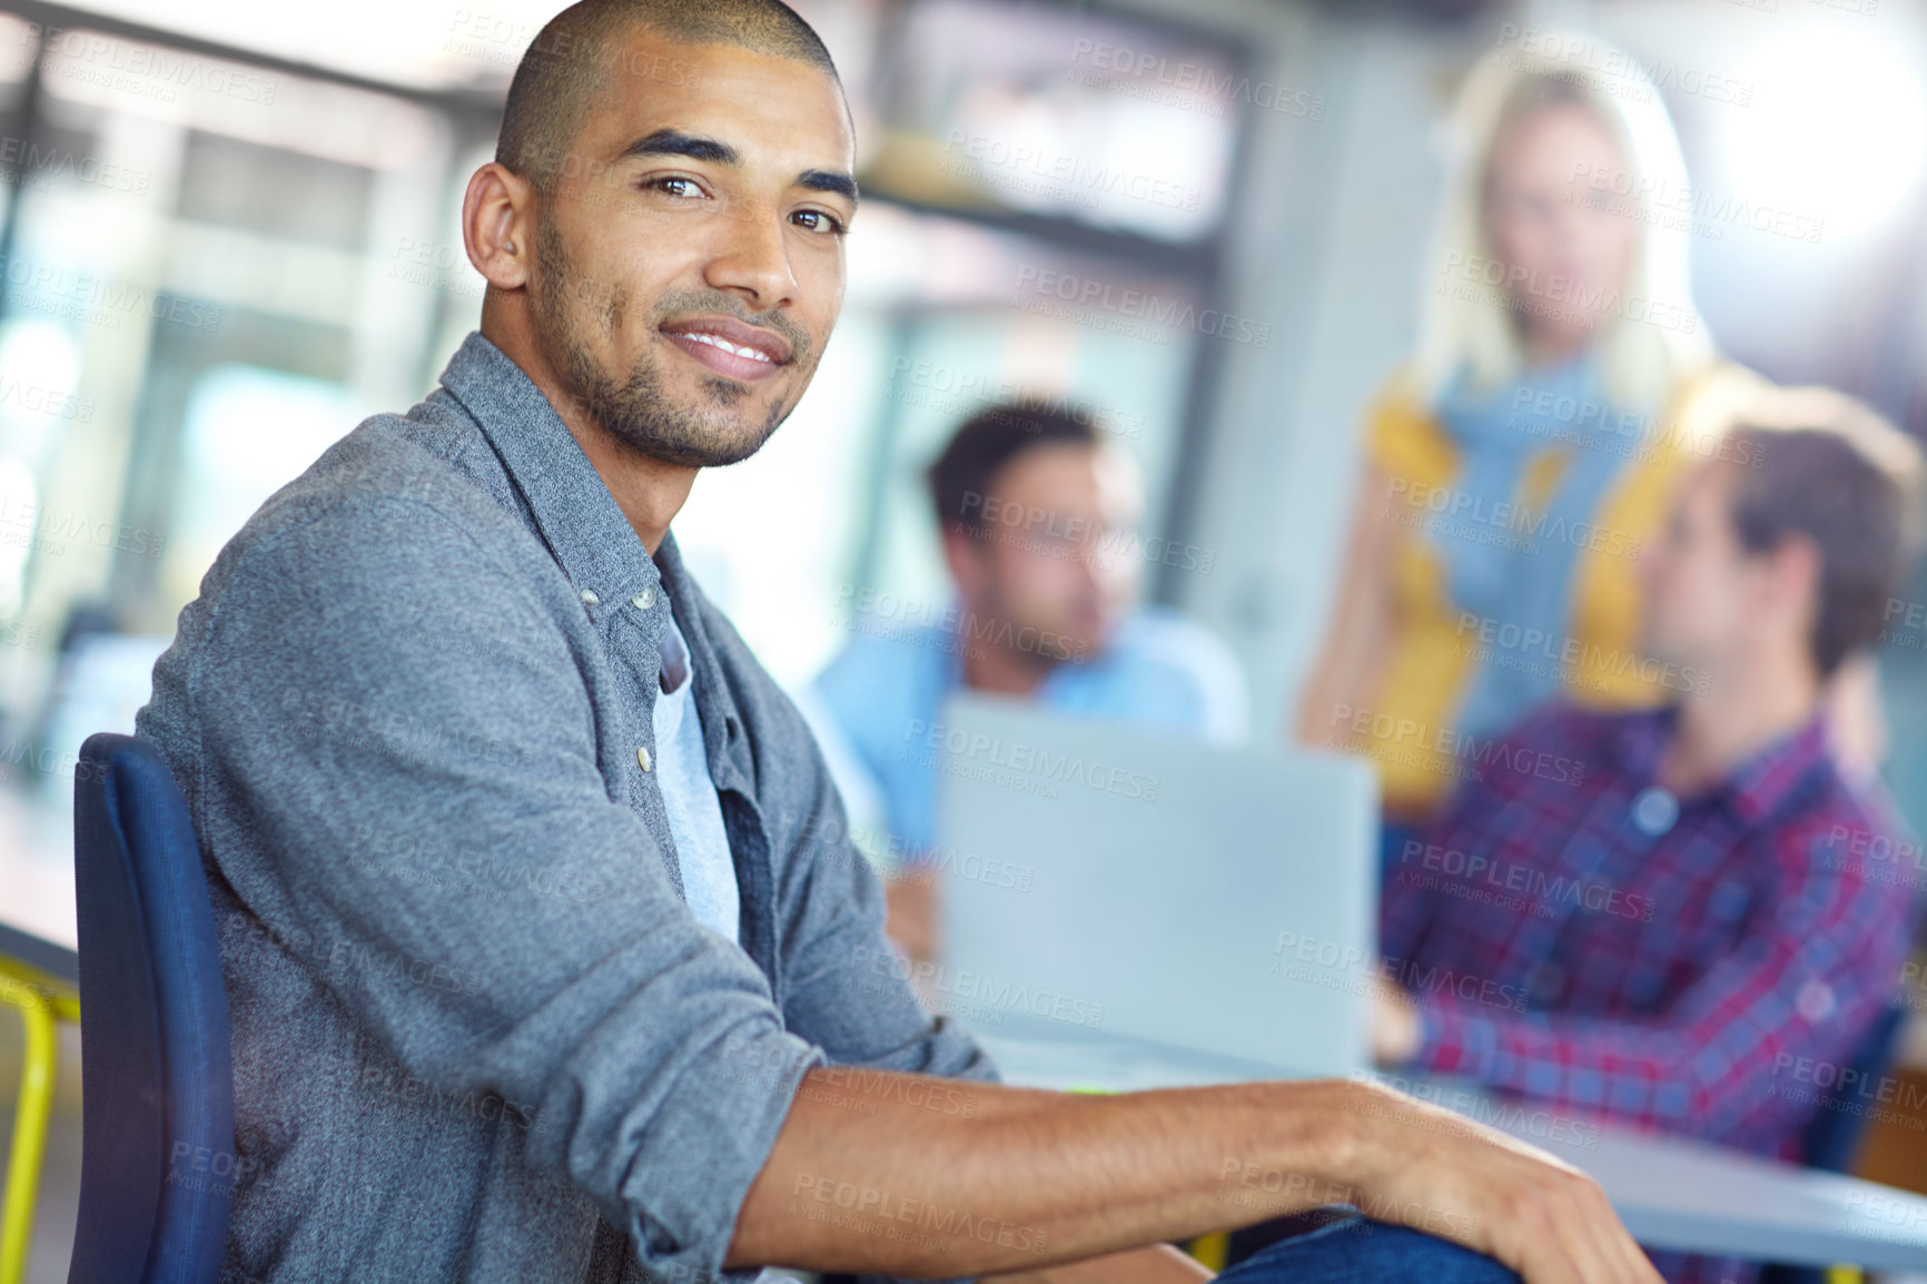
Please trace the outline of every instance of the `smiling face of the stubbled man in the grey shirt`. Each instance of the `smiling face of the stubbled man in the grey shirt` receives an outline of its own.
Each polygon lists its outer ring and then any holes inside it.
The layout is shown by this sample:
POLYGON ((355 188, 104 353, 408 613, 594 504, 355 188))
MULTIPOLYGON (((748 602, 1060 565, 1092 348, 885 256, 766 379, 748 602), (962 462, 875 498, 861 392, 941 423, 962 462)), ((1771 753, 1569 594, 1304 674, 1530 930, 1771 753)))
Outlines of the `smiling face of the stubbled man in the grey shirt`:
POLYGON ((809 386, 844 293, 854 141, 817 67, 636 31, 536 214, 536 341, 617 440, 746 459, 809 386))

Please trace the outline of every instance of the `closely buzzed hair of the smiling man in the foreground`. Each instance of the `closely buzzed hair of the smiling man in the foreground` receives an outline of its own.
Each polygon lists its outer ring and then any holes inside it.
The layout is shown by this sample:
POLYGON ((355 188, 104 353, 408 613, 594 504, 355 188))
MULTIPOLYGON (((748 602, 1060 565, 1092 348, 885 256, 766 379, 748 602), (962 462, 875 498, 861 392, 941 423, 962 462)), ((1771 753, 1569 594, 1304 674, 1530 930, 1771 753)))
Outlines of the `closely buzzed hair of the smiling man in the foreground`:
POLYGON ((674 67, 624 67, 622 39, 649 27, 686 44, 734 44, 807 62, 842 87, 815 29, 782 0, 580 0, 536 33, 509 83, 495 162, 547 195, 582 133, 590 102, 617 71, 676 81, 674 67))

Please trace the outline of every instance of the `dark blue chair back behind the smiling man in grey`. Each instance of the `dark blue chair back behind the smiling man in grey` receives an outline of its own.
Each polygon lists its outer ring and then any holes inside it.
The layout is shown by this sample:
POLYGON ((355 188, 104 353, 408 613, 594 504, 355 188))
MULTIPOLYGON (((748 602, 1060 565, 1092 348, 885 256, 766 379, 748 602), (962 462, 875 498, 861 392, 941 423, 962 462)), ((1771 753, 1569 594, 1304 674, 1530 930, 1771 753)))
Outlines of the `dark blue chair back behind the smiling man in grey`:
POLYGON ((227 991, 200 844, 168 763, 96 735, 73 773, 81 1213, 69 1284, 206 1284, 235 1174, 227 991))

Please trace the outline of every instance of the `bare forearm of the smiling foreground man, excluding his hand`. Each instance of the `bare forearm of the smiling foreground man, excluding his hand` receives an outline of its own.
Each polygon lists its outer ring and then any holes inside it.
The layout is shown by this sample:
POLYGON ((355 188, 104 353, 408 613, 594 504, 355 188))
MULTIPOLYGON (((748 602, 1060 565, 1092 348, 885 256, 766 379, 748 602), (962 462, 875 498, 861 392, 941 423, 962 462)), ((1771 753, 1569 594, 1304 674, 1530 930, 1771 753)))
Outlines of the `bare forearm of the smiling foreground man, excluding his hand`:
POLYGON ((904 1276, 1035 1271, 1314 1207, 1341 1180, 1333 1116, 1347 1087, 1083 1097, 811 1070, 726 1261, 904 1276), (929 1105, 935 1093, 944 1109, 929 1105), (1278 1180, 1241 1182, 1247 1172, 1278 1180))

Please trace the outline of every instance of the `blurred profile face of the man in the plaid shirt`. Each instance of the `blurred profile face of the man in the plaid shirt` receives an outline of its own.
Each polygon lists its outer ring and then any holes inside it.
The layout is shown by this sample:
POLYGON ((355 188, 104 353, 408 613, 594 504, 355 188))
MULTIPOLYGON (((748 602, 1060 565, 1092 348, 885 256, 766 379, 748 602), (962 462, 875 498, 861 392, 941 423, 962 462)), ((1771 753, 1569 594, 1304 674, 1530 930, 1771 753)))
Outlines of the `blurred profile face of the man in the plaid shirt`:
POLYGON ((1719 677, 1757 642, 1769 613, 1769 559, 1752 555, 1732 524, 1734 465, 1698 465, 1640 559, 1646 652, 1719 677))

